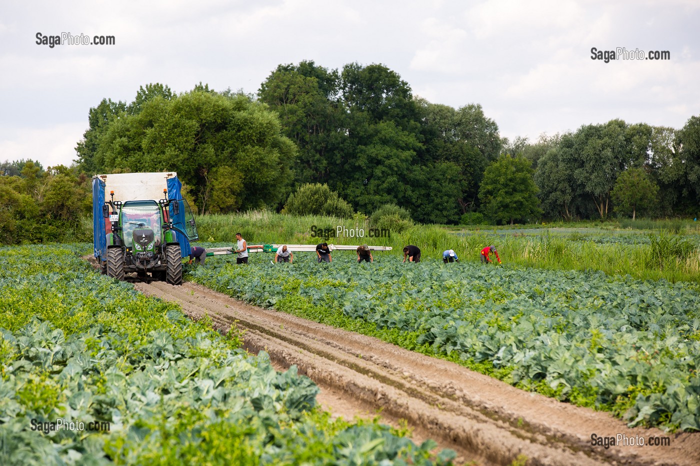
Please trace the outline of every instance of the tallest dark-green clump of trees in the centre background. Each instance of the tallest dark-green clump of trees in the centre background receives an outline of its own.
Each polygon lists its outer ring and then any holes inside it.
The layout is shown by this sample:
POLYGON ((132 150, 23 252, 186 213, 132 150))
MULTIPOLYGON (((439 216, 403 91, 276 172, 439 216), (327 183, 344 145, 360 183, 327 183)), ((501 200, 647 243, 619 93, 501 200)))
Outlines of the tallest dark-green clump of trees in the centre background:
POLYGON ((417 221, 457 223, 500 149, 481 106, 414 99, 382 64, 280 65, 259 94, 300 148, 295 184, 328 184, 358 211, 393 203, 417 221))

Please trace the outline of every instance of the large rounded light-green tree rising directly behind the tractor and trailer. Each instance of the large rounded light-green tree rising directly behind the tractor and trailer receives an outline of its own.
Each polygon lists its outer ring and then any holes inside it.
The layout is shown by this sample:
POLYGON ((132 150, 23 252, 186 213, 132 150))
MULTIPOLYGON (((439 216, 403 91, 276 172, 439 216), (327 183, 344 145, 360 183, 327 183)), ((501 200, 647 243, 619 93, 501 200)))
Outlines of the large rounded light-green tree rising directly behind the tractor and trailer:
POLYGON ((104 171, 177 171, 197 210, 207 213, 277 206, 296 155, 265 104, 197 90, 172 99, 157 95, 139 113, 110 120, 93 160, 104 171))

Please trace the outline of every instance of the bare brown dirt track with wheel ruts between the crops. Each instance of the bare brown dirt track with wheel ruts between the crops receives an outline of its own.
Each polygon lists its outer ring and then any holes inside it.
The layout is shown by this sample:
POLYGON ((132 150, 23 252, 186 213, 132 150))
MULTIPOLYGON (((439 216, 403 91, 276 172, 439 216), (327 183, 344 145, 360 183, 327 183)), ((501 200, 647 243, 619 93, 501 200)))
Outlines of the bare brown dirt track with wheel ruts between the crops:
POLYGON ((414 428, 477 464, 698 465, 700 434, 669 435, 627 428, 604 412, 527 393, 451 362, 429 358, 372 337, 249 306, 195 283, 135 283, 148 295, 177 302, 192 318, 208 314, 218 330, 246 330, 248 351, 265 350, 278 367, 297 365, 321 387, 321 403, 344 417, 376 412, 414 428), (600 437, 643 437, 645 446, 591 446, 600 437), (670 446, 649 446, 651 436, 670 446))

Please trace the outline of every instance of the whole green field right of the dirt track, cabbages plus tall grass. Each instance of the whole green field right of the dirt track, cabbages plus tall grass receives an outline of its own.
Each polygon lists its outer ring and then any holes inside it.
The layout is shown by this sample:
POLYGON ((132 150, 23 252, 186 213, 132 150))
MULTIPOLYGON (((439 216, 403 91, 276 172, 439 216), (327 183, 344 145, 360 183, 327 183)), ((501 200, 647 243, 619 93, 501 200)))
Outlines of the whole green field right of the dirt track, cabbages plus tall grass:
MULTIPOLYGON (((316 243, 311 225, 370 227, 362 219, 271 213, 209 216, 202 236, 223 246, 316 243)), ((188 279, 297 316, 370 334, 453 360, 515 386, 612 411, 632 425, 700 430, 700 234, 695 223, 658 230, 593 224, 526 228, 416 225, 388 238, 329 243, 392 246, 358 265, 352 251, 332 264, 297 253, 295 264, 251 255, 190 268, 188 279), (402 264, 400 249, 423 250, 402 264), (503 266, 479 264, 498 247, 503 266), (459 264, 442 264, 452 248, 459 264)), ((206 245, 207 243, 205 243, 206 245)))

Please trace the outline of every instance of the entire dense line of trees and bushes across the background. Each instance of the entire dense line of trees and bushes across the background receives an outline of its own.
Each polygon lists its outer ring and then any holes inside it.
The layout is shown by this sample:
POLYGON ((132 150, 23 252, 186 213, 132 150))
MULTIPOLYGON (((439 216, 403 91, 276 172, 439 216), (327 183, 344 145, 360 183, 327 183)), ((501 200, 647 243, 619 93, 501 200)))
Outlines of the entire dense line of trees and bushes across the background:
POLYGON ((279 65, 257 96, 149 84, 130 103, 103 99, 87 122, 70 168, 0 164, 0 241, 59 238, 89 217, 92 175, 129 171, 177 171, 200 213, 319 206, 422 223, 700 213, 700 116, 680 129, 610 120, 509 141, 479 104, 430 103, 381 64, 279 65))

